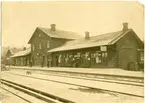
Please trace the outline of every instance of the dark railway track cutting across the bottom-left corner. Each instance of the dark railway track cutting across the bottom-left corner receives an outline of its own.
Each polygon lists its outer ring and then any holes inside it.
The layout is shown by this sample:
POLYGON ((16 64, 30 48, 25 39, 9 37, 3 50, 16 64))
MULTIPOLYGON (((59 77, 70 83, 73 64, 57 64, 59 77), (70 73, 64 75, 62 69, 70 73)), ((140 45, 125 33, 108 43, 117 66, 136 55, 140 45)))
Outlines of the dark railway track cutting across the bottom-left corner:
MULTIPOLYGON (((28 87, 28 86, 24 86, 22 84, 18 84, 18 83, 9 81, 9 80, 1 79, 1 83, 3 85, 9 86, 9 87, 14 88, 16 90, 19 90, 21 92, 29 94, 29 95, 31 95, 33 97, 41 99, 41 100, 45 101, 46 103, 75 103, 75 102, 73 102, 71 100, 67 100, 65 98, 61 98, 61 97, 58 97, 58 96, 55 96, 55 95, 52 95, 52 94, 49 94, 49 93, 46 93, 46 92, 43 92, 43 91, 40 91, 40 90, 36 90, 34 88, 31 88, 31 87, 28 87)), ((8 92, 11 92, 11 91, 3 88, 3 87, 2 87, 2 89, 6 90, 8 92)), ((13 92, 11 92, 11 93, 13 93, 13 92)), ((21 99, 25 100, 28 103, 32 103, 31 101, 27 100, 24 97, 21 97, 21 96, 19 96, 17 94, 14 94, 14 95, 20 97, 21 99)))

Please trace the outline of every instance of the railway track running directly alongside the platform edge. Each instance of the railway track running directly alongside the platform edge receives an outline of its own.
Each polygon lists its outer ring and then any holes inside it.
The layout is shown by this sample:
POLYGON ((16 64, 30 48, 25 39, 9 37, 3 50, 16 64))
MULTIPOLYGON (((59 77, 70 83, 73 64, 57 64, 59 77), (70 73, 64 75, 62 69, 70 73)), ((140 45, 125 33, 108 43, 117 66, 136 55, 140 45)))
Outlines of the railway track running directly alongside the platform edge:
MULTIPOLYGON (((12 70, 20 70, 19 68, 13 68, 12 70)), ((49 74, 59 74, 59 75, 69 75, 75 77, 87 77, 87 78, 98 78, 98 79, 108 79, 108 80, 118 80, 118 81, 127 81, 127 82, 138 82, 144 83, 144 77, 135 77, 135 76, 123 76, 123 75, 114 75, 114 74, 100 74, 100 73, 82 73, 74 71, 60 71, 60 70, 43 70, 43 69, 28 69, 21 68, 21 70, 28 70, 33 72, 43 72, 49 74)))

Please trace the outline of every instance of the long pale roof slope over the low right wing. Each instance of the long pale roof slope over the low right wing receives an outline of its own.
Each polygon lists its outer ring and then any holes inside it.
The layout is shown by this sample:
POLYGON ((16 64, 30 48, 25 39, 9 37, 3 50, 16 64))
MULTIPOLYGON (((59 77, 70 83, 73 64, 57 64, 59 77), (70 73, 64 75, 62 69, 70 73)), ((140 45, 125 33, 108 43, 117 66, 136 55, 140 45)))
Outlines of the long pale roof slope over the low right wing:
POLYGON ((61 47, 51 49, 48 52, 57 52, 57 51, 75 50, 75 49, 82 49, 82 48, 89 48, 89 47, 96 47, 96 46, 103 46, 103 45, 112 45, 116 41, 118 41, 122 36, 127 34, 129 31, 132 31, 132 29, 128 29, 126 32, 123 32, 121 30, 117 32, 92 36, 90 37, 89 40, 79 39, 74 41, 68 41, 66 44, 62 45, 61 47))

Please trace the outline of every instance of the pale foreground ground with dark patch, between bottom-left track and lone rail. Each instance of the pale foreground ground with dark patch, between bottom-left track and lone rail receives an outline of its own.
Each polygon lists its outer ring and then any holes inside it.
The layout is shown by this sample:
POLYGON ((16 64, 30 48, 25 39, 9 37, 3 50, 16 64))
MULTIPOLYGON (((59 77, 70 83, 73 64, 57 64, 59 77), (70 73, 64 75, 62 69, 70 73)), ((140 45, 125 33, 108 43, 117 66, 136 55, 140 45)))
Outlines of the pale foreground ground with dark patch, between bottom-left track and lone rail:
POLYGON ((2 74, 2 78, 25 84, 27 86, 31 86, 48 93, 56 94, 77 103, 143 103, 143 98, 139 97, 137 98, 104 92, 100 90, 92 90, 89 88, 82 88, 78 86, 70 86, 66 84, 36 80, 27 77, 14 76, 6 73, 2 74))

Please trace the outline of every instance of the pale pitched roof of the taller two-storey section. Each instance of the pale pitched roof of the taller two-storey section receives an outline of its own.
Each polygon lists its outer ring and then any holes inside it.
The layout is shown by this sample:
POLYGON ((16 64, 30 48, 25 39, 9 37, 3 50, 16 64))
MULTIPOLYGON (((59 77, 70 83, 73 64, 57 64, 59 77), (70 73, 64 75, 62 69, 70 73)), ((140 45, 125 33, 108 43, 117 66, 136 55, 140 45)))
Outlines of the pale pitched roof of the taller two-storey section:
MULTIPOLYGON (((80 39, 81 38, 81 35, 72 31, 64 31, 64 30, 59 30, 59 29, 52 31, 50 28, 44 28, 44 27, 37 27, 36 29, 41 30, 42 32, 44 32, 45 34, 47 34, 48 36, 52 38, 61 38, 61 39, 80 39)), ((30 43, 31 38, 28 43, 30 43)))

